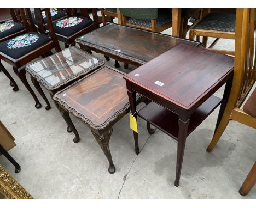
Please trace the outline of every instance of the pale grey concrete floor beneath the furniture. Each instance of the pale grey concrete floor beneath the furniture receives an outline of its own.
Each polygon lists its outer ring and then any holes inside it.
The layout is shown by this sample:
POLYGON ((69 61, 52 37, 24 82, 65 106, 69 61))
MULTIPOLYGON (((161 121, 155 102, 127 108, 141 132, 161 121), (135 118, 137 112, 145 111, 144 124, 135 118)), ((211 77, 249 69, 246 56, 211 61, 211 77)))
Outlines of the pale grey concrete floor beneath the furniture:
MULTIPOLYGON (((164 33, 171 34, 170 31, 164 33)), ((216 47, 234 49, 234 41, 220 40, 216 47)), ((175 140, 159 130, 150 136, 146 122, 138 119, 141 154, 136 155, 126 115, 113 127, 109 145, 117 171, 109 174, 107 159, 89 128, 71 116, 81 137, 79 143, 73 143, 74 136, 66 131, 66 123, 48 91, 44 89, 52 106, 50 111, 45 111, 38 94, 43 107, 34 108, 31 95, 11 66, 3 64, 20 89, 12 91, 9 79, 0 72, 0 119, 16 139, 17 146, 9 153, 20 163, 21 172, 15 174, 4 156, 0 163, 34 198, 256 199, 256 187, 246 197, 238 193, 255 161, 254 129, 230 121, 216 148, 210 154, 206 152, 219 108, 187 138, 180 186, 176 188, 175 140)), ((113 60, 107 64, 114 66, 113 60)), ((135 67, 130 66, 132 69, 135 67)), ((28 75, 27 79, 32 85, 28 75)), ((222 93, 223 88, 216 94, 222 93)))

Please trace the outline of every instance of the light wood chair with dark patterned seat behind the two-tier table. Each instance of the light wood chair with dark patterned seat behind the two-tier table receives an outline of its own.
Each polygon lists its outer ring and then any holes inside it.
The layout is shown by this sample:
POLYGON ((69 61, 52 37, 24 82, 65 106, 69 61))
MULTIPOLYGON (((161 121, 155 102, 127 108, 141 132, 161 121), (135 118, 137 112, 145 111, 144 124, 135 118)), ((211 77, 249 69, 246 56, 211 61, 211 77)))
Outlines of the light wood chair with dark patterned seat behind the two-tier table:
POLYGON ((197 36, 202 36, 203 46, 207 46, 208 37, 216 38, 208 47, 219 53, 234 55, 234 51, 216 50, 213 47, 217 44, 220 38, 235 39, 235 21, 236 14, 234 13, 214 13, 210 12, 193 27, 190 28, 189 39, 194 40, 197 36))

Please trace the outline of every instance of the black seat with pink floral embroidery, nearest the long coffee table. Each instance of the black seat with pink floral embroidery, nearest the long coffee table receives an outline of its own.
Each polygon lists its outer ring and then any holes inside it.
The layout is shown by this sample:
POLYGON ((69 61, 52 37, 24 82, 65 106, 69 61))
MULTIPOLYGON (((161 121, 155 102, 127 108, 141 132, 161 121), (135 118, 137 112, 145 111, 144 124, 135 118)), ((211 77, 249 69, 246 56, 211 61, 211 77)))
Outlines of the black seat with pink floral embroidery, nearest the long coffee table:
MULTIPOLYGON (((94 21, 83 17, 67 17, 53 22, 53 27, 57 35, 69 37, 93 23, 94 21)), ((48 29, 47 26, 46 29, 48 29)))

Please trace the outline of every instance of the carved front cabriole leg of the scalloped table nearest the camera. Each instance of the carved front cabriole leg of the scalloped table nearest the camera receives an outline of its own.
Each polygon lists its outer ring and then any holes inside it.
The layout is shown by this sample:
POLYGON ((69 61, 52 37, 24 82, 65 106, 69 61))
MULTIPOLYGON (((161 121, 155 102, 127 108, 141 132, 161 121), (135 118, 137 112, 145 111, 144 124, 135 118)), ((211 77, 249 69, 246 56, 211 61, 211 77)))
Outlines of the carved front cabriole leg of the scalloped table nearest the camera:
POLYGON ((94 135, 97 143, 100 145, 101 149, 104 152, 104 155, 107 157, 109 162, 108 172, 109 173, 115 173, 115 166, 112 161, 111 152, 109 150, 109 139, 111 137, 111 134, 113 132, 113 129, 110 128, 108 131, 104 132, 101 136, 98 135, 95 131, 91 130, 92 135, 94 135))

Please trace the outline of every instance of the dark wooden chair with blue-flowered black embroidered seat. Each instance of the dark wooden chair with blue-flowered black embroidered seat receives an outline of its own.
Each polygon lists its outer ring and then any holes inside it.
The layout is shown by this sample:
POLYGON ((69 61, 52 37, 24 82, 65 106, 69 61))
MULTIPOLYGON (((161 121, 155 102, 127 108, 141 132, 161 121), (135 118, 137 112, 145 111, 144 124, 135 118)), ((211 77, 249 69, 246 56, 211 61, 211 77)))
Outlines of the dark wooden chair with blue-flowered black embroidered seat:
MULTIPOLYGON (((26 19, 25 10, 19 10, 22 21, 24 22, 24 25, 27 29, 27 33, 15 36, 12 39, 1 42, 0 60, 4 60, 4 62, 7 62, 8 64, 13 66, 15 74, 21 79, 21 82, 25 85, 27 90, 33 96, 33 99, 36 102, 35 107, 40 108, 41 104, 26 79, 26 64, 31 62, 33 59, 44 55, 45 53, 50 54, 50 50, 53 48, 55 48, 56 51, 61 51, 61 48, 56 36, 54 35, 55 33, 53 32, 53 28, 50 28, 49 30, 50 38, 47 35, 33 32, 32 28, 30 27, 31 23, 28 23, 26 19)), ((5 75, 9 74, 1 62, 0 69, 4 72, 5 75)), ((16 83, 13 84, 13 90, 17 91, 19 89, 18 86, 16 85, 16 83)), ((43 93, 43 91, 41 93, 43 93)))

